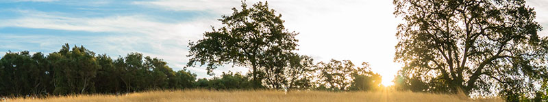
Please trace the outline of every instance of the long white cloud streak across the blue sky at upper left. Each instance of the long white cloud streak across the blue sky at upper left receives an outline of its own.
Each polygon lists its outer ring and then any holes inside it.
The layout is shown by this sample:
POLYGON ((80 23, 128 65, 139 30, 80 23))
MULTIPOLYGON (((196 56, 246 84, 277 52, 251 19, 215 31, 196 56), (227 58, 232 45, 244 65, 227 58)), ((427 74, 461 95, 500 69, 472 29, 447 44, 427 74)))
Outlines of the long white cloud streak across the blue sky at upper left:
MULTIPOLYGON (((34 29, 57 29, 66 31, 146 33, 175 35, 184 24, 162 23, 149 20, 147 16, 108 16, 101 18, 82 18, 62 16, 63 14, 21 11, 25 16, 4 20, 0 27, 26 27, 34 29)), ((197 22, 200 22, 199 20, 197 22)), ((195 23, 195 22, 194 22, 195 23)), ((188 24, 188 23, 187 23, 188 24)), ((192 29, 190 29, 192 30, 192 29)))

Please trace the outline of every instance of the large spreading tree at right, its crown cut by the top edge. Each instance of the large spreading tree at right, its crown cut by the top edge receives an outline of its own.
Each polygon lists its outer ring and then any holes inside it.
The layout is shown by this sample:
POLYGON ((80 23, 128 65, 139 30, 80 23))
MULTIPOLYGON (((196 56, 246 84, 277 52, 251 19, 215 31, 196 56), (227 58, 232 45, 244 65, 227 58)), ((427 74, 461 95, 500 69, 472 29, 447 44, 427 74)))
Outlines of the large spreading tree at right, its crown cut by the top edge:
POLYGON ((523 0, 394 4, 405 21, 397 27, 395 61, 405 64, 401 76, 421 80, 425 91, 532 95, 546 78, 541 27, 523 0))

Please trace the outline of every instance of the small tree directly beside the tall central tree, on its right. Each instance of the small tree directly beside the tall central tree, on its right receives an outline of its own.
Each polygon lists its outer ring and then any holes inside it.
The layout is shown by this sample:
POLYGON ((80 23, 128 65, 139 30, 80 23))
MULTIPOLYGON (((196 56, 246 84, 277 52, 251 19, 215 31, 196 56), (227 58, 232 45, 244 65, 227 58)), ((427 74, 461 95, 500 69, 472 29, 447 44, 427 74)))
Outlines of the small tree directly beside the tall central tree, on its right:
POLYGON ((309 88, 312 84, 310 75, 314 73, 313 59, 299 54, 283 54, 273 50, 266 52, 262 62, 264 68, 259 74, 265 86, 269 88, 309 88))

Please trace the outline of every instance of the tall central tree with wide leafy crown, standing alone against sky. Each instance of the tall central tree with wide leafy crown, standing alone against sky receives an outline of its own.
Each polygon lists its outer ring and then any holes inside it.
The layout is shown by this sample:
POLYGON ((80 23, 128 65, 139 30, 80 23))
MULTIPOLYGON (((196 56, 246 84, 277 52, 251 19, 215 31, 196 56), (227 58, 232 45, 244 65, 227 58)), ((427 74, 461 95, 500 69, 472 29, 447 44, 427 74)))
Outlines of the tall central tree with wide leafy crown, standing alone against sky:
MULTIPOLYGON (((224 24, 220 29, 203 33, 203 39, 190 42, 190 61, 188 66, 207 64, 208 74, 219 65, 232 63, 251 67, 253 82, 258 80, 258 71, 264 67, 265 52, 279 50, 291 52, 297 50, 298 33, 285 29, 282 15, 275 15, 268 2, 258 2, 253 7, 247 7, 242 2, 242 9, 234 11, 230 16, 223 16, 219 21, 224 24)), ((288 54, 288 53, 284 53, 288 54)))

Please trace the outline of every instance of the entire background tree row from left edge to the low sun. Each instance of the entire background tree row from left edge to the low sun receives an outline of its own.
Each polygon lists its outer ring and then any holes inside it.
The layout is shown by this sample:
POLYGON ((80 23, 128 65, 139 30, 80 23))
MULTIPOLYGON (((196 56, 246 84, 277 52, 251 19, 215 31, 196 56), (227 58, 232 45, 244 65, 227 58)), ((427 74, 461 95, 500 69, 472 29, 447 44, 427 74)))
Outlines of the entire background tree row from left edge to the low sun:
MULTIPOLYGON (((312 60, 312 59, 310 59, 312 60)), ((299 62, 300 63, 300 62, 299 62)), ((308 62, 309 64, 312 61, 308 62)), ((350 61, 345 61, 351 64, 350 61)), ((288 75, 265 72, 264 83, 254 86, 250 75, 227 72, 219 77, 197 79, 186 69, 173 71, 160 58, 129 53, 111 58, 95 54, 84 46, 65 44, 58 52, 43 54, 28 51, 8 52, 0 58, 0 96, 21 97, 68 94, 122 94, 145 90, 183 90, 191 88, 211 90, 283 89, 295 90, 374 90, 380 84, 380 75, 369 67, 341 65, 333 60, 326 65, 308 65, 301 69, 288 69, 288 75), (315 67, 319 67, 316 69, 315 67), (345 68, 350 73, 338 73, 345 68), (317 71, 316 71, 317 70, 317 71), (325 73, 329 70, 329 73, 325 73), (322 72, 318 81, 310 75, 322 72), (268 73, 268 74, 266 74, 268 73), (282 76, 278 76, 282 75, 282 76), (340 75, 340 76, 338 76, 340 75), (336 77, 335 77, 336 76, 336 77), (348 77, 352 76, 352 77, 348 77), (340 78, 351 78, 339 80, 340 78), (336 86, 340 81, 345 86, 336 86), (349 82, 356 83, 349 86, 349 82), (327 84, 329 83, 329 84, 327 84)), ((342 71, 341 71, 342 72, 342 71)))

